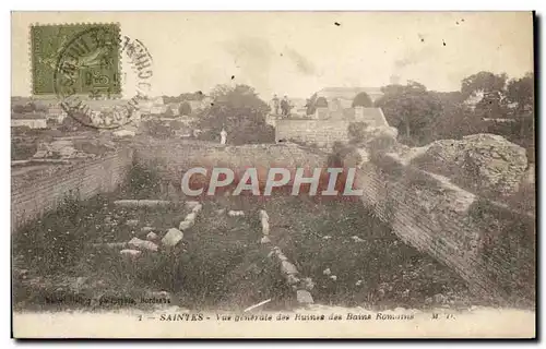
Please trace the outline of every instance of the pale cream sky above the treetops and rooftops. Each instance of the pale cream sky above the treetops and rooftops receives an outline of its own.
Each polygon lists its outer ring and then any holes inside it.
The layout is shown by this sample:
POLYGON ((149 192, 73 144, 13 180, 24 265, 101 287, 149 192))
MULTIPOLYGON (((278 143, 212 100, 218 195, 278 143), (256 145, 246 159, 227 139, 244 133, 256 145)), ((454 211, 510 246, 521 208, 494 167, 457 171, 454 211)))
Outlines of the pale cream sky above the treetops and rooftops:
MULTIPOLYGON (((153 57, 153 96, 248 84, 262 98, 392 76, 459 91, 479 71, 533 71, 531 12, 12 12, 12 96, 31 95, 33 24, 115 22, 153 57)), ((123 96, 136 91, 123 59, 123 96)))

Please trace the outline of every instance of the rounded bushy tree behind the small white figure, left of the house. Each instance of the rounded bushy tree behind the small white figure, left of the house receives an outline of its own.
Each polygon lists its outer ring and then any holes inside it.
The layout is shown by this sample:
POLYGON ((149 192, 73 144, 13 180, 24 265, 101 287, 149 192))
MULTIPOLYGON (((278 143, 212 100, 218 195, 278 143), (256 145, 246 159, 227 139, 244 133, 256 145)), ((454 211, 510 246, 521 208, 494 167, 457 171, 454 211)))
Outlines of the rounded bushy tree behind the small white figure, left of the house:
POLYGON ((217 140, 224 128, 228 144, 274 142, 274 129, 265 122, 270 107, 248 85, 218 85, 211 94, 212 106, 201 112, 197 127, 204 137, 217 140))

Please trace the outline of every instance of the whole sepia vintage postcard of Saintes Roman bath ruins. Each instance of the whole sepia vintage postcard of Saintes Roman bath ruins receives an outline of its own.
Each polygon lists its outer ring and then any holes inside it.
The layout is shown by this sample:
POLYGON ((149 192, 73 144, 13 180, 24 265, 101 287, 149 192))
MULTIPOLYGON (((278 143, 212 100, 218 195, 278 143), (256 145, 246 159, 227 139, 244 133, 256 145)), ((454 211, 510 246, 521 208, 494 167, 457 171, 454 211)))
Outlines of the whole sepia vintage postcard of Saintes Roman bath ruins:
POLYGON ((13 337, 535 338, 532 12, 11 21, 13 337))

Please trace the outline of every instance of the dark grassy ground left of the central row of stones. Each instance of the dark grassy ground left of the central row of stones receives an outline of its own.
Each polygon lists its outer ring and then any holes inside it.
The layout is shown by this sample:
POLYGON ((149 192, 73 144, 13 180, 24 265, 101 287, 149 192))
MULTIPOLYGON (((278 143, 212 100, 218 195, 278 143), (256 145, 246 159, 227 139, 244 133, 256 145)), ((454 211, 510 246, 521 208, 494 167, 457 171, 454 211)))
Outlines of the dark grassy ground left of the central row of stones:
POLYGON ((16 309, 111 308, 100 304, 107 298, 133 299, 136 304, 120 305, 146 308, 139 300, 159 291, 168 292, 171 303, 191 309, 244 309, 269 298, 278 308, 289 301, 252 219, 217 215, 221 205, 209 202, 183 242, 132 260, 120 255, 122 248, 96 244, 145 239, 140 232, 144 226, 163 236, 189 210, 121 209, 112 198, 67 202, 14 236, 16 309), (128 226, 131 219, 139 225, 128 226), (93 303, 82 301, 88 299, 93 303))

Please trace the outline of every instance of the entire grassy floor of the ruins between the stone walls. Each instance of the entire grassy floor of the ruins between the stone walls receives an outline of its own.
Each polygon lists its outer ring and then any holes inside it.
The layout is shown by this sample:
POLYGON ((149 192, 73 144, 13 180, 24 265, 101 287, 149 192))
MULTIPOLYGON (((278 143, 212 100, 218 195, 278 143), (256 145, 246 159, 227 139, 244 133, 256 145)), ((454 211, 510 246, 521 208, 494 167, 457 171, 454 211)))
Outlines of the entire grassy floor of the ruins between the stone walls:
POLYGON ((195 226, 174 249, 128 258, 121 248, 97 248, 145 239, 144 226, 155 227, 159 237, 178 227, 189 213, 183 204, 151 209, 112 204, 115 198, 161 197, 157 182, 153 171, 135 167, 117 193, 67 201, 13 234, 15 309, 149 308, 139 300, 161 291, 168 292, 170 304, 195 310, 240 310, 269 298, 266 309, 292 306, 294 292, 259 242, 261 208, 270 216, 273 243, 314 281, 318 303, 382 309, 477 302, 456 275, 402 243, 354 201, 217 197, 204 202, 195 226), (246 215, 229 217, 218 209, 246 215), (138 225, 128 225, 131 219, 138 225), (331 275, 324 275, 327 268, 331 275), (102 301, 108 298, 135 303, 102 301))

